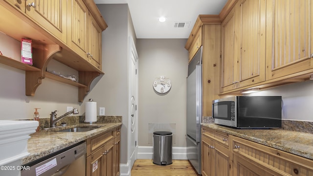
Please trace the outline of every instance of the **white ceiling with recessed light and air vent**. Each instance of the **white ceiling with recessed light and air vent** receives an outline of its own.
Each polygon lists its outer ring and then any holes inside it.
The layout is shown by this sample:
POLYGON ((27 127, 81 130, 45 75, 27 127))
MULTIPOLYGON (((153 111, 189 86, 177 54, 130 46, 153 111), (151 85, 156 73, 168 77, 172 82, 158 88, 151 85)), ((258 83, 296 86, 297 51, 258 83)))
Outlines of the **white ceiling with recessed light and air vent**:
POLYGON ((94 0, 96 4, 128 3, 137 39, 187 39, 198 15, 219 14, 227 0, 94 0), (165 16, 166 22, 158 22, 165 16), (175 28, 174 22, 190 22, 175 28))

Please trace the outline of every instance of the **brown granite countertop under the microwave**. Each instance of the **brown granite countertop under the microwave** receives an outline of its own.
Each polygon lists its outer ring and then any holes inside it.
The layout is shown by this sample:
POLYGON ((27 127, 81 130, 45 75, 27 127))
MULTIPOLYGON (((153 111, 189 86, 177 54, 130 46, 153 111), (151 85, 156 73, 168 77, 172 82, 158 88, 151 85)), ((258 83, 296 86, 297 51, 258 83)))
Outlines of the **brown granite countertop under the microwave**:
POLYGON ((293 132, 280 129, 234 129, 214 123, 201 123, 201 125, 291 154, 313 159, 312 133, 293 132))

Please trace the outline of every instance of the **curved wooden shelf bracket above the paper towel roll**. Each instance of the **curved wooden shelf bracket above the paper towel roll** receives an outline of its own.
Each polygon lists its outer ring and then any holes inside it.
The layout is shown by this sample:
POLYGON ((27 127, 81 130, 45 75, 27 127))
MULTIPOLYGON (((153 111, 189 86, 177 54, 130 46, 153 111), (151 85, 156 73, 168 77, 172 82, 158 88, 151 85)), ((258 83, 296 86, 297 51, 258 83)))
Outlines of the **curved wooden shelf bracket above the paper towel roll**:
POLYGON ((90 89, 90 84, 94 78, 100 75, 99 72, 96 71, 79 71, 78 72, 78 81, 80 84, 86 85, 87 87, 80 87, 78 89, 78 101, 83 102, 84 97, 87 95, 90 89))

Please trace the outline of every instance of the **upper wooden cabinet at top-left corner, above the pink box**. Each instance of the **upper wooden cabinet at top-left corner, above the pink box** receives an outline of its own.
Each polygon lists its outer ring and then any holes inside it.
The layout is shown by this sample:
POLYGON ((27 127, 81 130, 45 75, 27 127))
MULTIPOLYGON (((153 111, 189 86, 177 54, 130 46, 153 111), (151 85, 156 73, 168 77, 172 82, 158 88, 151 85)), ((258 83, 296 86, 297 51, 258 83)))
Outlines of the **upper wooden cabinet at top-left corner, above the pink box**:
POLYGON ((38 25, 66 43, 67 1, 66 0, 4 0, 14 8, 26 13, 38 25))

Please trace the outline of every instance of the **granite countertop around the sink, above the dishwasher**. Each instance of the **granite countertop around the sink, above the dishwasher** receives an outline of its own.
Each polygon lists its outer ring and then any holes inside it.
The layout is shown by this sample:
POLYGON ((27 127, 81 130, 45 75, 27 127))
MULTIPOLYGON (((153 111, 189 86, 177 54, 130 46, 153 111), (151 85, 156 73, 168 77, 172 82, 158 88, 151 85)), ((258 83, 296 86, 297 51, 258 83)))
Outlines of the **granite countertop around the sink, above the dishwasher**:
POLYGON ((28 156, 21 159, 21 163, 27 164, 31 161, 52 154, 62 150, 68 146, 84 141, 92 136, 107 132, 115 127, 122 125, 122 123, 95 123, 89 125, 86 123, 79 123, 78 125, 71 125, 67 127, 58 128, 60 130, 69 129, 77 126, 102 126, 95 130, 88 132, 53 132, 53 130, 41 130, 30 134, 30 139, 27 142, 28 156))

